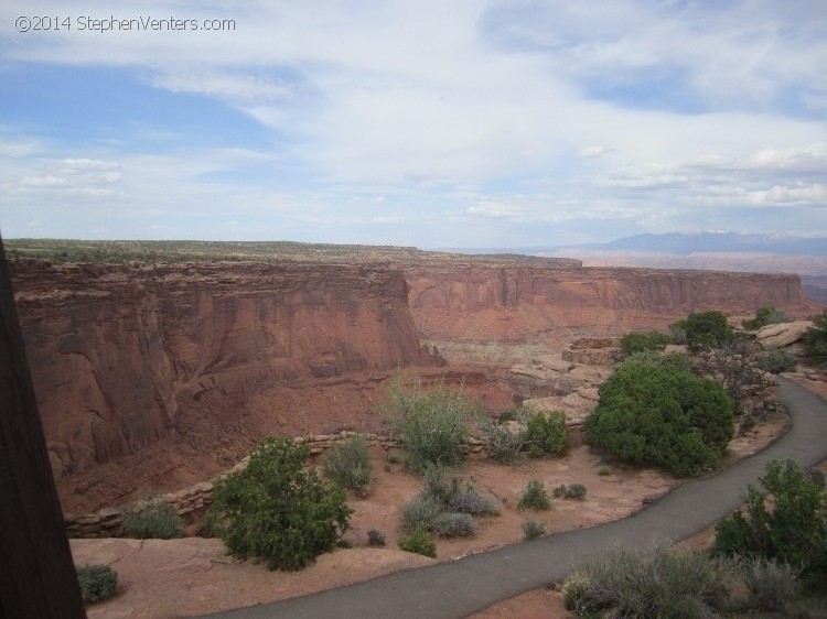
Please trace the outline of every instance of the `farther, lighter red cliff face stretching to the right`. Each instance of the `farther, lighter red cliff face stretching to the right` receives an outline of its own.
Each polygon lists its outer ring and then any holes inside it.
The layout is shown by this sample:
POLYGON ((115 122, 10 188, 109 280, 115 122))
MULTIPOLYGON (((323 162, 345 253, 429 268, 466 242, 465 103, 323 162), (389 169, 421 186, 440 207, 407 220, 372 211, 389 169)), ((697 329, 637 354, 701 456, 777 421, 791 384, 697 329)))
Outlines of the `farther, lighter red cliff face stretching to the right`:
POLYGON ((797 275, 623 268, 411 268, 410 306, 436 340, 536 341, 658 327, 689 312, 812 311, 797 275))

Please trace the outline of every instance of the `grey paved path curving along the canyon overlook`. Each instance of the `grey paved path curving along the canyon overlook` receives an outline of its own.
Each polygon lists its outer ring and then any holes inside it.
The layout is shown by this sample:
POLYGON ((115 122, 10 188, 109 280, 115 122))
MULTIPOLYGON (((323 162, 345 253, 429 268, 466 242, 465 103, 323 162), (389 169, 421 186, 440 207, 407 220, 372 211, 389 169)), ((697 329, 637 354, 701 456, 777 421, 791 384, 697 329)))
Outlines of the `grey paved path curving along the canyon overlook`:
POLYGON ((737 509, 747 485, 763 475, 770 460, 793 458, 809 467, 827 459, 827 404, 786 379, 780 379, 778 400, 790 409, 793 426, 773 445, 718 475, 676 488, 630 518, 211 617, 457 619, 562 580, 573 566, 613 543, 635 546, 687 537, 737 509))

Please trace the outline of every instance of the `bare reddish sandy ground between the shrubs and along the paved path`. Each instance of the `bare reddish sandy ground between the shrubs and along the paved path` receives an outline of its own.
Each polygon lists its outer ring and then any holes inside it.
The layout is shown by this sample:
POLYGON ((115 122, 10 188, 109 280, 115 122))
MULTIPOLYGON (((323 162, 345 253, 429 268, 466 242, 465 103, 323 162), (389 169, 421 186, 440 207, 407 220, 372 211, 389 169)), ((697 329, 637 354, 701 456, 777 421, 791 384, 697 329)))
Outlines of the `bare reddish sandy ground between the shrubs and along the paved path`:
MULTIPOLYGON (((785 423, 785 417, 778 416, 737 438, 731 457, 741 457, 765 445, 783 431, 785 423)), ((644 499, 657 497, 679 484, 664 473, 601 457, 582 444, 573 446, 563 458, 526 460, 517 466, 471 460, 454 474, 473 480, 479 491, 494 497, 502 513, 477 519, 475 537, 439 540, 438 558, 430 560, 396 550, 400 535, 398 509, 421 489, 421 480, 405 471, 395 461, 393 452, 390 458, 380 449, 373 456, 375 484, 370 496, 348 500, 355 511, 345 537, 353 547, 322 555, 299 573, 269 572, 262 564, 239 562, 225 554, 218 540, 72 540, 77 564, 108 564, 119 575, 118 595, 105 604, 90 606, 89 618, 181 617, 286 599, 517 542, 523 537, 522 523, 526 518, 541 520, 549 533, 624 518, 641 509, 644 499), (599 475, 600 468, 606 466, 611 475, 599 475), (588 496, 584 501, 552 499, 548 512, 522 512, 516 504, 533 479, 549 489, 560 484, 582 484, 588 496), (385 534, 386 547, 367 546, 370 529, 385 534)), ((559 593, 543 589, 505 600, 477 617, 530 619, 571 615, 565 611, 559 593)))

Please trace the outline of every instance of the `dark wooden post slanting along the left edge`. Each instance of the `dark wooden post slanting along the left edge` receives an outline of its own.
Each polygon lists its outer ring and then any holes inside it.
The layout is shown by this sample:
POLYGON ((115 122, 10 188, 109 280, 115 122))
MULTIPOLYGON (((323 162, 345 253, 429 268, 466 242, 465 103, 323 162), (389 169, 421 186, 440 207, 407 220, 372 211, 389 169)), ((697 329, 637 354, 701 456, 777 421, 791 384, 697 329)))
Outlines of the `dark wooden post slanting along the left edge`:
POLYGON ((0 617, 86 617, 0 239, 0 617))

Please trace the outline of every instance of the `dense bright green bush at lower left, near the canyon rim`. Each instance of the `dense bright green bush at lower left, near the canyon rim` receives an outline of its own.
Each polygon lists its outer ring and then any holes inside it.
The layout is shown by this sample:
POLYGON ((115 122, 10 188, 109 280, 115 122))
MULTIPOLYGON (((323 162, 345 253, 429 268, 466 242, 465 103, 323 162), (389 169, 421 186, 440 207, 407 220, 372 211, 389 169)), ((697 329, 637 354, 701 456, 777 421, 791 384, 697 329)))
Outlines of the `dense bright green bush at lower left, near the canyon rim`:
POLYGON ((211 511, 230 553, 291 571, 335 547, 352 510, 341 488, 303 468, 309 455, 305 444, 268 438, 250 454, 246 469, 216 482, 211 511))

